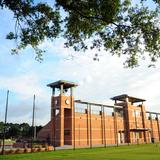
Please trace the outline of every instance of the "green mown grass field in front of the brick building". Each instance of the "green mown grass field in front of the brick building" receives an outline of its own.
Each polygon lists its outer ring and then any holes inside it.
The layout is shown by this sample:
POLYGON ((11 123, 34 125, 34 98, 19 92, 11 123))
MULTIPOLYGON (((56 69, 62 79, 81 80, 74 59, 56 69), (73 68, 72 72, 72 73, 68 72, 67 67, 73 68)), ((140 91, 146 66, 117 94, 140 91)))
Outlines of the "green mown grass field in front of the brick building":
POLYGON ((0 160, 159 160, 156 144, 0 155, 0 160))

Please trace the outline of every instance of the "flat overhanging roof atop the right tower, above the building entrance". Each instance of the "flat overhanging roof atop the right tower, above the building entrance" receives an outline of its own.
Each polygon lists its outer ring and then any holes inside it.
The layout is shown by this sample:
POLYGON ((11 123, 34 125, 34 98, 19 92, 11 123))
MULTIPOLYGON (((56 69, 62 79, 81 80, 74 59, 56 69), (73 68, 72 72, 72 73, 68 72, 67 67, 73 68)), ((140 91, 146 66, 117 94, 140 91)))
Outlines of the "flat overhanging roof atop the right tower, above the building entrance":
POLYGON ((126 98, 128 98, 129 102, 132 102, 132 103, 146 101, 145 99, 131 97, 131 96, 127 95, 127 94, 122 94, 122 95, 119 95, 119 96, 115 96, 115 97, 113 97, 111 99, 125 102, 126 98))

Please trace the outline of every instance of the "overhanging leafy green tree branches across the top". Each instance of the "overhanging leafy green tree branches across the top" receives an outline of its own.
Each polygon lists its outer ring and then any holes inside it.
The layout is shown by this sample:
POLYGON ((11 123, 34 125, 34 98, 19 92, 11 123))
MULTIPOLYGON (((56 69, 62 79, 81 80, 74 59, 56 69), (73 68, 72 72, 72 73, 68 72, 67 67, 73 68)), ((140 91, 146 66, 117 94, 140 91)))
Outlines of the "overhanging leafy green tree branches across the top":
POLYGON ((13 11, 15 31, 7 39, 16 40, 13 53, 31 45, 41 60, 38 45, 59 36, 65 46, 76 51, 105 49, 111 54, 125 55, 125 65, 135 67, 139 59, 150 58, 154 64, 160 57, 160 0, 56 0, 54 7, 33 0, 0 0, 1 8, 13 11), (152 7, 150 7, 152 3, 152 7), (65 15, 61 16, 61 9, 65 15), (86 40, 91 43, 86 43, 86 40))

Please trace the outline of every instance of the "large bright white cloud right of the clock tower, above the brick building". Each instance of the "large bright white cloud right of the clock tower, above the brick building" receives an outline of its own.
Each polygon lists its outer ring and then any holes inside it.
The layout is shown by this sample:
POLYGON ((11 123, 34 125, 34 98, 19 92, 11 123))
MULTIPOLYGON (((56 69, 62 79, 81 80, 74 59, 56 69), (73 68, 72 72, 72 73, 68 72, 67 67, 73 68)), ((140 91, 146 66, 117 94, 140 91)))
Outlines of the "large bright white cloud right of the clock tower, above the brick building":
POLYGON ((159 66, 147 68, 142 64, 135 69, 124 69, 122 59, 105 55, 95 62, 91 59, 92 54, 90 51, 87 56, 76 56, 74 60, 63 61, 59 66, 58 72, 62 77, 79 83, 75 95, 77 99, 104 102, 125 93, 145 98, 148 110, 159 111, 159 66))

